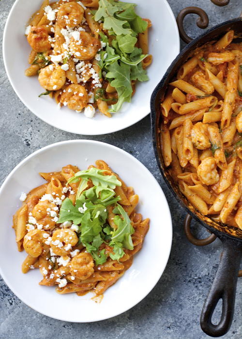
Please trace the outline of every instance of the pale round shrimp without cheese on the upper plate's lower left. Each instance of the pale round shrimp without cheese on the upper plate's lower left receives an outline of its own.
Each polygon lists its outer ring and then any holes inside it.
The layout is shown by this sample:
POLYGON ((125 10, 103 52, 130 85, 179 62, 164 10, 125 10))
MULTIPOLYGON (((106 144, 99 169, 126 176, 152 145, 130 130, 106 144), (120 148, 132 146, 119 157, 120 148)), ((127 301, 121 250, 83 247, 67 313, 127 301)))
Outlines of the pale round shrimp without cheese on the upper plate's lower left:
POLYGON ((39 74, 39 83, 49 91, 61 89, 65 84, 65 71, 59 65, 48 65, 39 74))

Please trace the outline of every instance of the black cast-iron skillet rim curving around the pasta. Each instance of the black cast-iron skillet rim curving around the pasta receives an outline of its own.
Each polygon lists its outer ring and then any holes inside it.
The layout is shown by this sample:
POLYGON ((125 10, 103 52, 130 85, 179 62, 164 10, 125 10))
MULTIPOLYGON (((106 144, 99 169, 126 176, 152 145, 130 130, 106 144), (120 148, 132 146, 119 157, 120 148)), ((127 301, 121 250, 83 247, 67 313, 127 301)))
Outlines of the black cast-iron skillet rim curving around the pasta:
POLYGON ((186 54, 187 51, 192 50, 192 48, 194 47, 194 45, 197 44, 197 42, 199 42, 200 40, 202 40, 204 37, 207 37, 208 35, 210 35, 211 32, 215 31, 218 28, 221 28, 223 26, 226 26, 227 24, 233 24, 235 22, 239 22, 242 21, 242 18, 235 18, 235 19, 231 19, 231 20, 227 20, 225 22, 222 22, 221 24, 218 24, 216 26, 213 26, 211 29, 209 29, 207 32, 199 35, 196 39, 192 40, 185 48, 183 48, 181 50, 181 52, 178 54, 178 56, 173 60, 173 62, 171 63, 171 65, 169 66, 169 68, 167 69, 165 75, 163 76, 162 80, 157 84, 157 86, 155 87, 152 95, 151 95, 151 133, 152 133, 152 142, 153 142, 153 149, 154 149, 154 153, 155 153, 155 158, 156 161, 158 163, 160 172, 162 174, 162 177, 164 178, 167 187, 169 188, 169 190, 171 191, 171 193, 173 194, 173 196, 176 198, 176 200, 178 201, 178 203, 182 206, 182 208, 189 213, 197 222, 199 222, 200 224, 202 224, 203 226, 205 226, 207 229, 209 229, 212 233, 214 233, 220 240, 222 240, 222 238, 230 238, 232 240, 236 240, 236 241, 241 241, 242 239, 232 236, 230 234, 227 234, 223 231, 217 230, 215 227, 212 227, 208 224, 206 224, 204 221, 202 221, 194 212, 192 212, 184 203, 183 201, 180 199, 179 195, 176 194, 176 192, 173 190, 173 188, 171 187, 169 181, 167 180, 164 170, 161 167, 160 164, 160 159, 159 159, 159 155, 158 155, 158 151, 157 151, 157 145, 156 145, 156 131, 155 131, 155 117, 156 117, 156 112, 155 112, 155 107, 154 107, 154 103, 155 103, 155 98, 158 94, 158 92, 160 91, 160 89, 164 86, 164 83, 166 82, 167 77, 169 76, 171 70, 173 69, 173 67, 179 63, 181 57, 186 54))

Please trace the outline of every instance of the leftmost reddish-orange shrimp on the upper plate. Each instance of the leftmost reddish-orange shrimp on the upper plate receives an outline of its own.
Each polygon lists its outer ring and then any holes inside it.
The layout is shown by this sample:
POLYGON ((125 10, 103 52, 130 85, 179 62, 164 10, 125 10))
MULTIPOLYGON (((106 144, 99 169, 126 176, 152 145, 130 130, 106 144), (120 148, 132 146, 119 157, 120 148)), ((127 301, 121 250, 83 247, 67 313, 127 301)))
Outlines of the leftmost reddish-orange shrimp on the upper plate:
POLYGON ((45 52, 51 48, 49 37, 45 26, 33 26, 27 36, 27 40, 36 52, 45 52))

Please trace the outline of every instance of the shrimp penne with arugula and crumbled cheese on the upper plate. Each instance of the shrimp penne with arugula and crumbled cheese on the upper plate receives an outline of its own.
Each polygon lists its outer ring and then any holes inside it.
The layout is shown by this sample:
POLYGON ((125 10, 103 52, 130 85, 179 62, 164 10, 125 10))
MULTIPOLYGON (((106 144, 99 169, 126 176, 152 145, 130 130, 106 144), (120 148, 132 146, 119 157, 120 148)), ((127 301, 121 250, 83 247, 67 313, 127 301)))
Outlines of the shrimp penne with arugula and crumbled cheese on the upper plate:
POLYGON ((149 19, 134 3, 118 0, 44 0, 30 18, 26 35, 32 48, 25 75, 38 74, 59 108, 92 118, 108 117, 130 102, 136 81, 147 81, 149 19), (123 27, 125 25, 125 28, 123 27), (111 107, 108 107, 110 106, 111 107))

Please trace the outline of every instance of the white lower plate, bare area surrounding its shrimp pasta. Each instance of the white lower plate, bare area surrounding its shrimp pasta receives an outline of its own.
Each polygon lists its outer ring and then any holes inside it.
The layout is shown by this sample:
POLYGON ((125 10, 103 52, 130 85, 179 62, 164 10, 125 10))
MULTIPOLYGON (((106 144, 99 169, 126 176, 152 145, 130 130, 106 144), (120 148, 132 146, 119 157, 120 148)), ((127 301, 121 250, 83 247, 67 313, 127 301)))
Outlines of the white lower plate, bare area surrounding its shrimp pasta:
POLYGON ((0 274, 9 288, 25 304, 49 317, 68 322, 94 322, 116 316, 140 302, 161 277, 170 254, 172 224, 166 197, 149 170, 118 147, 90 140, 63 141, 46 146, 21 161, 0 188, 0 274), (79 297, 60 295, 54 287, 38 285, 39 270, 22 274, 25 252, 18 252, 12 216, 20 206, 21 192, 44 182, 38 172, 58 171, 66 164, 86 169, 96 160, 106 161, 139 195, 137 211, 151 219, 143 248, 133 265, 108 288, 101 303, 90 292, 79 297))

